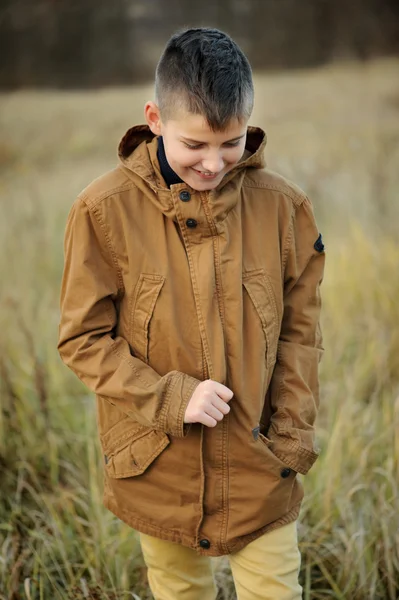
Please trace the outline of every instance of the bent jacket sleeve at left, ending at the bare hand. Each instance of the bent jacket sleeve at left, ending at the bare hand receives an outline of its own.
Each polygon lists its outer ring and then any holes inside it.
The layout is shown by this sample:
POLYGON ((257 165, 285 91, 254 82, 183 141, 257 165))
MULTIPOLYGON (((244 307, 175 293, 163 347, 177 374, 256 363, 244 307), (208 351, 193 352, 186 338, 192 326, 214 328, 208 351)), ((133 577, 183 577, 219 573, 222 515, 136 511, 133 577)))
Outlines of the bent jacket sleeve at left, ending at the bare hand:
POLYGON ((64 242, 58 351, 94 393, 142 425, 183 437, 187 404, 200 383, 179 371, 163 377, 117 335, 123 279, 98 207, 73 205, 64 242))

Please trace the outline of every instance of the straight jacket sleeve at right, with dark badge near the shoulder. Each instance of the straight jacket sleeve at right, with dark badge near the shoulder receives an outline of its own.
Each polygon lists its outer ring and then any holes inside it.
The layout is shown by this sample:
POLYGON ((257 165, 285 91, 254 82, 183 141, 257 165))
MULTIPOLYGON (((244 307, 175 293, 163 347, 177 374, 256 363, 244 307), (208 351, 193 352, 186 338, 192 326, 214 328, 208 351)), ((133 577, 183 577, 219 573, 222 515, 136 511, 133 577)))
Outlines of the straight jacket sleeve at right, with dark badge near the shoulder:
POLYGON ((269 388, 271 449, 285 464, 306 474, 318 457, 314 421, 319 406, 319 324, 324 246, 308 198, 292 220, 284 276, 284 312, 277 360, 269 388))

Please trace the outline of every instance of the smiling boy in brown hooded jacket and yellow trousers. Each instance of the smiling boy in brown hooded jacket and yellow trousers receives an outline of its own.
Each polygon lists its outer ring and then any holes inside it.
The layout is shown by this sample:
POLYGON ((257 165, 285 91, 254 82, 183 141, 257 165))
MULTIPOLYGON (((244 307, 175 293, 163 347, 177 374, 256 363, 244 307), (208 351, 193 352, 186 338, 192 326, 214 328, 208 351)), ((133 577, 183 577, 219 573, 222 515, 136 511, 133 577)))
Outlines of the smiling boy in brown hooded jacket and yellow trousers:
POLYGON ((104 503, 156 600, 298 599, 297 473, 317 458, 321 236, 265 170, 249 63, 215 29, 167 44, 147 126, 72 207, 59 351, 96 393, 104 503))

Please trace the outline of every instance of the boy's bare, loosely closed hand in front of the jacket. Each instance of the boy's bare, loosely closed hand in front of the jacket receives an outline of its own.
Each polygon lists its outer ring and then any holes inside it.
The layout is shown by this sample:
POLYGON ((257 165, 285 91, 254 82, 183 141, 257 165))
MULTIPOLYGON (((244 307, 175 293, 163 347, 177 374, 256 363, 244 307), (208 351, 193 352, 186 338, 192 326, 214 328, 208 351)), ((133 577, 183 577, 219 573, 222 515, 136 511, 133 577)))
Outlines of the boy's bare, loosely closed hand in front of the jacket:
POLYGON ((227 402, 230 402, 232 397, 233 392, 222 383, 212 379, 202 381, 190 398, 184 422, 215 427, 218 421, 230 412, 227 402))

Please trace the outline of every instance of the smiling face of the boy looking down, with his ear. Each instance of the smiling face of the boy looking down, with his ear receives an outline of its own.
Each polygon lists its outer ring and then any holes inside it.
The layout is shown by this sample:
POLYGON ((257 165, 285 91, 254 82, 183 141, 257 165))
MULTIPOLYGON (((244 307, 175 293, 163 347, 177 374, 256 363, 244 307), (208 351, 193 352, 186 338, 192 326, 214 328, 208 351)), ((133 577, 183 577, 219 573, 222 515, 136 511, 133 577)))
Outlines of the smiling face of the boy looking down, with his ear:
POLYGON ((153 102, 146 104, 145 115, 151 131, 163 136, 170 166, 194 190, 216 188, 244 153, 246 121, 234 120, 224 131, 212 131, 202 115, 181 109, 165 123, 153 102))

